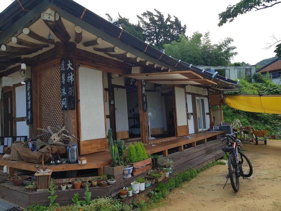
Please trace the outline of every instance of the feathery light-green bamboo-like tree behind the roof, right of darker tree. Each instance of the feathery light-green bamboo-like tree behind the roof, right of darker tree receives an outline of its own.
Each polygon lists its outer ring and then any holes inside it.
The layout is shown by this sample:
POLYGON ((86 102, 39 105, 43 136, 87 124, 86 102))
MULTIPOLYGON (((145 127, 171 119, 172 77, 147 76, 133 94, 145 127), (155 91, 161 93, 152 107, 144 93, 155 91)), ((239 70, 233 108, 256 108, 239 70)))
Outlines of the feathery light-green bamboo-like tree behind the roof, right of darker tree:
POLYGON ((210 33, 204 36, 194 32, 188 38, 182 34, 179 40, 165 44, 165 53, 182 61, 195 65, 230 65, 230 59, 237 54, 235 46, 231 46, 232 38, 225 38, 218 44, 212 44, 210 33))

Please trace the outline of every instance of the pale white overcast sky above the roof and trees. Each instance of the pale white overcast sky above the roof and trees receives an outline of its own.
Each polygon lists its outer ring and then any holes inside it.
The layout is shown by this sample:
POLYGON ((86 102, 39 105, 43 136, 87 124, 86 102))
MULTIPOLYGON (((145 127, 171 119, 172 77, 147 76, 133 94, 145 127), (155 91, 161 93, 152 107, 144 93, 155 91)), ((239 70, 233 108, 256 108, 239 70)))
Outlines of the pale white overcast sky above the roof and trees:
MULTIPOLYGON (((196 31, 201 33, 210 31, 213 44, 225 37, 232 37, 233 45, 237 47, 238 52, 232 62, 245 61, 254 65, 262 59, 274 57, 275 46, 270 49, 265 48, 269 45, 268 43, 274 43, 272 36, 281 38, 281 27, 278 23, 281 4, 239 15, 233 22, 218 27, 218 14, 225 11, 228 5, 234 5, 239 0, 75 1, 105 19, 107 19, 105 13, 117 19, 119 12, 123 17, 129 18, 131 23, 137 23, 136 15, 157 9, 165 17, 167 14, 175 15, 182 25, 186 24, 187 36, 196 31)), ((11 2, 12 0, 1 0, 0 11, 3 11, 11 2)))

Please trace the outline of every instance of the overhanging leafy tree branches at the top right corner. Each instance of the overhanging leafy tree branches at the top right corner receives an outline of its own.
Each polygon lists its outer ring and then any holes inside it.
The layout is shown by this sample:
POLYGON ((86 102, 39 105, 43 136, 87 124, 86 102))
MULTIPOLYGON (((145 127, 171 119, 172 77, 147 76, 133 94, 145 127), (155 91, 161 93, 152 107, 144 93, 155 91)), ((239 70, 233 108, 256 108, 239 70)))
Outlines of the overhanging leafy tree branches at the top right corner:
MULTIPOLYGON (((229 5, 225 11, 219 14, 220 21, 218 23, 218 26, 222 26, 226 22, 232 22, 237 17, 237 15, 245 14, 251 10, 258 11, 266 9, 279 3, 281 3, 281 1, 278 0, 241 0, 233 6, 229 5)), ((279 43, 280 41, 280 39, 276 39, 276 42, 270 44, 269 48, 279 43)), ((276 45, 274 52, 276 53, 277 57, 281 57, 281 43, 276 45)))

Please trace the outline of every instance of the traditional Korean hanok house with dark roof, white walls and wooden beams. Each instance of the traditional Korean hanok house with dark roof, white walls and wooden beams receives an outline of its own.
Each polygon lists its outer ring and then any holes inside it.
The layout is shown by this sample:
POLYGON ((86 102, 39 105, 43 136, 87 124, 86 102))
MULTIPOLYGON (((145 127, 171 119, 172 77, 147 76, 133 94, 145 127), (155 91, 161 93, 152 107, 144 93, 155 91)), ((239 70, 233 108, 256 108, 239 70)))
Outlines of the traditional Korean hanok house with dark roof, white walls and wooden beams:
MULTIPOLYGON (((66 126, 88 163, 53 172, 102 175, 111 162, 109 128, 114 138, 142 141, 148 154, 163 156, 224 133, 205 132, 213 121, 209 94, 237 82, 176 60, 72 0, 14 1, 0 19, 1 136, 31 138, 37 128, 66 126)), ((25 161, 0 165, 37 170, 25 161)))

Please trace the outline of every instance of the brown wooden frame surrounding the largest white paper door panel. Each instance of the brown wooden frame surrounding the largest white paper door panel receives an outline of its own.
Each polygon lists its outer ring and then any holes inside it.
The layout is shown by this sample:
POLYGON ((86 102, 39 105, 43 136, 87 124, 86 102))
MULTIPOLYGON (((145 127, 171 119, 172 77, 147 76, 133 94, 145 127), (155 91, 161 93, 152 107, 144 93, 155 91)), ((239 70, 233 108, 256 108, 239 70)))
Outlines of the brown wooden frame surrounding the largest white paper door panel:
MULTIPOLYGON (((105 113, 105 89, 104 89, 104 81, 103 81, 103 76, 104 76, 104 72, 103 70, 98 70, 102 72, 102 91, 103 91, 103 108, 104 108, 104 121, 105 121, 105 138, 99 138, 98 140, 102 140, 104 139, 105 142, 105 146, 102 148, 97 148, 95 150, 84 150, 83 145, 81 144, 81 115, 80 115, 80 88, 79 88, 79 67, 85 67, 85 68, 89 68, 89 69, 93 69, 93 70, 97 70, 95 67, 93 66, 89 66, 89 65, 83 65, 83 64, 79 64, 79 63, 75 63, 75 67, 76 67, 76 71, 75 71, 75 89, 76 89, 76 108, 77 108, 77 112, 76 112, 76 116, 77 116, 77 128, 78 128, 78 137, 79 137, 79 154, 90 154, 90 153, 95 153, 95 152, 100 152, 100 151, 105 151, 107 150, 107 134, 106 134, 106 113, 105 113)), ((97 139, 94 139, 97 140, 97 139)), ((93 141, 93 139, 91 140, 85 140, 85 141, 93 141)))

